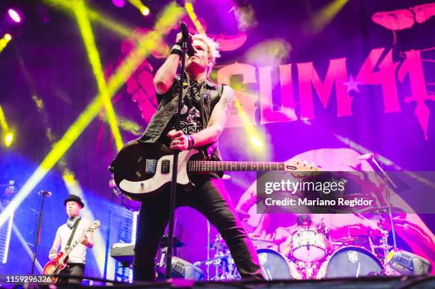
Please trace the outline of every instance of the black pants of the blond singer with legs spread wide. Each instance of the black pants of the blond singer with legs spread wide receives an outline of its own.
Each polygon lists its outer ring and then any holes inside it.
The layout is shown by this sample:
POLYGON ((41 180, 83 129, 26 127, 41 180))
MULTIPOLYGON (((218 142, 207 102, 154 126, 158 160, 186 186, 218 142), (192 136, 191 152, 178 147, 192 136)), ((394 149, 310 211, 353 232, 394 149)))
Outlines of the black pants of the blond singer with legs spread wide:
MULTIPOLYGON (((197 178, 193 190, 179 190, 176 207, 190 206, 202 213, 227 243, 242 278, 263 279, 257 252, 235 213, 222 180, 197 178)), ((154 281, 155 258, 168 224, 170 188, 142 202, 134 248, 134 280, 154 281)))

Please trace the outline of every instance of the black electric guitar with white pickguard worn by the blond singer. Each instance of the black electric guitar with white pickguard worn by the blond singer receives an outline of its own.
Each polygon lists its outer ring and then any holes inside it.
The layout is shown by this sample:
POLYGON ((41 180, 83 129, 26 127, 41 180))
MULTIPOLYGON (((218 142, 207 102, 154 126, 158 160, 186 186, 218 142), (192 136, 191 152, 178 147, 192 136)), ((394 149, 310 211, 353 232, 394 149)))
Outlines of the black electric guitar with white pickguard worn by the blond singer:
MULTIPOLYGON (((124 195, 131 200, 143 200, 145 195, 159 192, 163 185, 171 182, 172 161, 173 151, 162 143, 134 140, 119 151, 111 170, 117 187, 124 195)), ((188 185, 192 173, 225 170, 286 170, 302 177, 320 168, 298 160, 285 163, 205 160, 202 152, 191 149, 178 155, 177 184, 188 185)))

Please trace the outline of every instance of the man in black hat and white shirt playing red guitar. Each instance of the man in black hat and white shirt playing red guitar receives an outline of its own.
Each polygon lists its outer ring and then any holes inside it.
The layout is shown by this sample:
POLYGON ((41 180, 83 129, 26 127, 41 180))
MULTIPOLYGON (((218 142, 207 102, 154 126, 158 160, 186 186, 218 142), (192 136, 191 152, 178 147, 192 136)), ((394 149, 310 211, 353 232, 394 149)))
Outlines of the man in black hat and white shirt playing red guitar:
MULTIPOLYGON (((58 228, 48 258, 50 258, 51 261, 56 261, 56 259, 59 258, 59 246, 60 250, 65 252, 75 241, 83 239, 68 254, 66 261, 68 267, 60 271, 60 274, 65 276, 83 276, 83 272, 85 271, 86 249, 94 246, 92 231, 87 231, 91 223, 80 217, 80 209, 85 207, 85 204, 83 204, 79 196, 69 195, 68 198, 63 201, 63 205, 65 205, 68 214, 68 221, 58 228)), ((80 284, 81 282, 82 280, 80 278, 64 277, 60 280, 60 283, 70 284, 80 284)))

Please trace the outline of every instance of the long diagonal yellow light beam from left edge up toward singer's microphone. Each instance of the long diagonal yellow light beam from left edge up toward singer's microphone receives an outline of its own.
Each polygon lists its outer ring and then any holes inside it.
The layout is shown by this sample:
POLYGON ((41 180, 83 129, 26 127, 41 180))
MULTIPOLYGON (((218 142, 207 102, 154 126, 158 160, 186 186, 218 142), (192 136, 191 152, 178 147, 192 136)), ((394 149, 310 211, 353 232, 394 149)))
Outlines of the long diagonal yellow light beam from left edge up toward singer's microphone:
MULTIPOLYGON (((168 33, 171 28, 183 17, 183 9, 176 6, 175 2, 171 2, 161 14, 161 18, 156 21, 154 30, 147 33, 141 38, 139 45, 136 49, 131 51, 127 58, 122 62, 117 71, 109 78, 107 82, 107 93, 111 96, 122 87, 124 82, 141 64, 146 55, 149 55, 151 50, 157 47, 158 40, 161 39, 163 33, 168 33)), ((66 151, 73 145, 75 140, 80 134, 85 131, 90 122, 97 116, 102 107, 102 97, 97 95, 95 100, 90 103, 85 111, 80 114, 78 119, 70 126, 65 132, 63 137, 55 143, 52 150, 45 156, 41 165, 35 170, 31 177, 21 187, 16 197, 9 202, 9 205, 0 214, 0 227, 6 222, 9 212, 15 210, 21 202, 27 197, 28 194, 38 185, 48 171, 53 168, 53 165, 65 154, 66 151)))

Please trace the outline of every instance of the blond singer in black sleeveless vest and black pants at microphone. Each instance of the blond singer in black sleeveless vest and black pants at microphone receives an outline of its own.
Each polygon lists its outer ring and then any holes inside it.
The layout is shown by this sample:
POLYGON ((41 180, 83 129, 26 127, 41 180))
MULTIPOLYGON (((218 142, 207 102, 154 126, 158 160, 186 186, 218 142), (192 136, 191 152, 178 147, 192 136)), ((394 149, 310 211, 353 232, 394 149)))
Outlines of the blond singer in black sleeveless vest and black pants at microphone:
MULTIPOLYGON (((186 36, 186 26, 181 26, 186 36)), ((192 51, 186 57, 186 81, 176 75, 181 60, 183 33, 178 33, 171 54, 156 72, 159 109, 139 141, 161 142, 181 151, 195 148, 211 160, 220 160, 218 138, 232 107, 233 92, 227 85, 217 85, 209 79, 220 57, 219 45, 203 34, 188 37, 192 51), (181 131, 173 129, 178 102, 178 87, 183 87, 181 131)), ((188 48, 189 50, 189 48, 188 48)), ((257 253, 251 239, 235 213, 221 175, 207 173, 193 176, 194 187, 189 192, 177 192, 176 207, 190 206, 201 212, 222 234, 242 278, 263 279, 257 253)), ((134 249, 134 280, 155 280, 155 258, 163 231, 168 224, 170 191, 149 195, 142 202, 134 249)))

